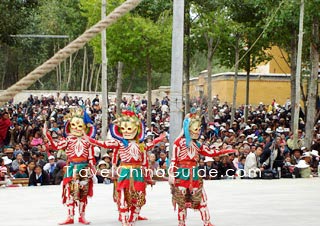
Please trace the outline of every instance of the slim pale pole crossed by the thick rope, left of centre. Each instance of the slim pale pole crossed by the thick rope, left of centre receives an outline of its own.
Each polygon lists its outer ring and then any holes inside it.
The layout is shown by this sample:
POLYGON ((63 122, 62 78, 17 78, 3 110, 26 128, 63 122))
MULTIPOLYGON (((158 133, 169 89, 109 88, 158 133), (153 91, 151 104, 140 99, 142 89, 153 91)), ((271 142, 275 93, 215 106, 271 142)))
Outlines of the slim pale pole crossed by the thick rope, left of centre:
MULTIPOLYGON (((102 0, 101 5, 101 18, 106 18, 106 0, 102 0)), ((107 79, 107 35, 106 30, 101 32, 101 53, 102 53, 102 139, 107 139, 108 131, 108 79, 107 79)), ((101 156, 105 154, 106 150, 101 151, 101 156)))

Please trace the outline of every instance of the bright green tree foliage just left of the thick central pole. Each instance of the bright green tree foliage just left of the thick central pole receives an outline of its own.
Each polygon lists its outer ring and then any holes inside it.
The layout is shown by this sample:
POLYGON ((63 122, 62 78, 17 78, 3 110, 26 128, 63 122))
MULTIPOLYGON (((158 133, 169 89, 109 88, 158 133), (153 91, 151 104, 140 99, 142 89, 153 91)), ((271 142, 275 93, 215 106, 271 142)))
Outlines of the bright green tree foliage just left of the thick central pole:
MULTIPOLYGON (((121 3, 121 1, 108 1, 109 11, 116 6, 116 2, 118 5, 121 3)), ((166 5, 160 4, 161 1, 158 3, 159 9, 166 5)), ((97 0, 81 1, 81 9, 83 15, 88 18, 88 26, 100 20, 100 11, 96 10, 100 5, 100 1, 97 0)), ((146 87, 147 60, 151 63, 153 75, 159 73, 168 75, 167 72, 170 71, 171 17, 167 13, 159 13, 154 5, 148 8, 149 6, 150 2, 146 2, 107 30, 108 65, 115 68, 118 61, 124 63, 124 90, 131 87, 133 91, 145 91, 145 88, 140 88, 136 82, 142 80, 144 81, 142 87, 146 87)), ((100 62, 100 36, 90 42, 90 45, 94 49, 96 61, 100 62)), ((153 84, 156 87, 159 85, 159 80, 153 79, 153 84)))

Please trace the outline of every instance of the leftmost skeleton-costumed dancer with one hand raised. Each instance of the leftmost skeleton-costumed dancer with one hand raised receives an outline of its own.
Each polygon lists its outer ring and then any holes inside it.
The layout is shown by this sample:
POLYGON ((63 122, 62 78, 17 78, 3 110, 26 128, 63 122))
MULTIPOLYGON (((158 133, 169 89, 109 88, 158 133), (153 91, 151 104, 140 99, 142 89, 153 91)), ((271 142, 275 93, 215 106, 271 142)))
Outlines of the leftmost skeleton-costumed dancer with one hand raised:
POLYGON ((67 205, 67 220, 60 225, 74 223, 74 208, 79 206, 79 223, 90 224, 85 219, 87 198, 93 195, 93 181, 90 173, 95 172, 95 159, 93 146, 83 137, 95 135, 95 128, 90 117, 81 108, 73 108, 65 116, 67 123, 65 132, 67 137, 54 141, 46 128, 44 133, 50 141, 50 146, 55 150, 66 151, 68 165, 63 178, 63 203, 67 205))

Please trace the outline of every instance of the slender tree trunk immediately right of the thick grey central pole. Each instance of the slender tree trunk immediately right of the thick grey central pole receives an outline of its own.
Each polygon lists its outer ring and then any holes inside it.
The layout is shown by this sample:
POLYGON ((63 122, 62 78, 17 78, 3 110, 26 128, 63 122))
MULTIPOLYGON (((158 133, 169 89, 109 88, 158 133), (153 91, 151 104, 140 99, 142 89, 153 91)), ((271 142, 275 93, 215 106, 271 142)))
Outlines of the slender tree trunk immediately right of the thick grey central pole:
POLYGON ((190 1, 186 2, 185 8, 185 36, 186 36, 186 57, 185 57, 185 114, 190 112, 190 58, 191 58, 191 41, 190 41, 190 1))

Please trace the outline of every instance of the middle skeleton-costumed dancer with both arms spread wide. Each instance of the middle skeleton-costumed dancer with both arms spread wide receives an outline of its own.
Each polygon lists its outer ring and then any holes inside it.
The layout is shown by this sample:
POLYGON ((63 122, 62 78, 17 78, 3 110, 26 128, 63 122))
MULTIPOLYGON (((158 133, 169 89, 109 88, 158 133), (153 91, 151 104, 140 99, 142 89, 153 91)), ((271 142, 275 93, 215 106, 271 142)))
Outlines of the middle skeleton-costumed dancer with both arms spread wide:
POLYGON ((114 199, 118 205, 119 220, 123 226, 133 226, 138 220, 141 207, 146 203, 146 186, 153 183, 147 170, 147 150, 162 141, 164 136, 145 145, 144 124, 131 111, 122 112, 111 124, 110 132, 115 139, 89 140, 94 145, 113 149, 112 173, 117 173, 118 176, 118 180, 115 181, 114 199))

